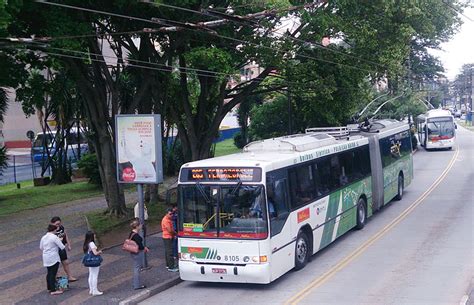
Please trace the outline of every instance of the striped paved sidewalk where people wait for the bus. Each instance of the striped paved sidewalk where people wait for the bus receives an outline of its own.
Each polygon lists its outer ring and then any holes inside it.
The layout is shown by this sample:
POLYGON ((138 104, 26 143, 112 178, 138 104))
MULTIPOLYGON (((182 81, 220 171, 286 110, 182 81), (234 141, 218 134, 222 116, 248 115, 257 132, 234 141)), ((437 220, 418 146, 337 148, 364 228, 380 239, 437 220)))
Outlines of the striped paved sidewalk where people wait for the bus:
MULTIPOLYGON (((126 202, 132 202, 136 194, 127 197, 126 202)), ((153 234, 147 237, 151 269, 141 274, 147 289, 132 289, 132 259, 118 245, 103 254, 98 287, 104 295, 88 294, 88 269, 81 264, 87 231, 83 215, 105 207, 104 198, 90 198, 0 217, 0 304, 133 304, 179 283, 179 275, 165 268, 161 235, 153 234), (72 273, 79 280, 70 283, 64 294, 51 296, 46 291, 46 268, 42 265, 39 241, 55 215, 63 220, 72 241, 68 256, 72 273)), ((58 275, 64 275, 62 267, 58 275)))

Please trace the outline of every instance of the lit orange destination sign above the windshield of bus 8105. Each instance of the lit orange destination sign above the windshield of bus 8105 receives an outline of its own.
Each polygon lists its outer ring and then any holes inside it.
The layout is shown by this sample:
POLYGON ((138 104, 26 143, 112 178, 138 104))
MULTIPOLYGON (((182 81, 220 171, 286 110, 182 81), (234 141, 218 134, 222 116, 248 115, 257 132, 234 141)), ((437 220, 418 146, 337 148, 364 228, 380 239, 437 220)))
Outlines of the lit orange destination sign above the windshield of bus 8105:
POLYGON ((258 182, 261 177, 261 169, 250 167, 185 168, 181 173, 181 181, 258 182))

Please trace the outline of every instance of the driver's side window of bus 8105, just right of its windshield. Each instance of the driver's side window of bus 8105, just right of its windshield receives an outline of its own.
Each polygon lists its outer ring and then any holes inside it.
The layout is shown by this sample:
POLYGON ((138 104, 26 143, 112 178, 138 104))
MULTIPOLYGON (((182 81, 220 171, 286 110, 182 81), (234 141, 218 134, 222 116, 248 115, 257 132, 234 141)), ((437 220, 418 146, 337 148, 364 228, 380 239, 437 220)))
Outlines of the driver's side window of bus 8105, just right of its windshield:
POLYGON ((286 219, 290 214, 287 200, 288 192, 286 179, 279 179, 272 184, 267 184, 267 196, 269 197, 268 202, 272 200, 273 208, 275 209, 274 213, 271 213, 274 217, 270 215, 270 232, 271 236, 274 236, 281 232, 286 219))

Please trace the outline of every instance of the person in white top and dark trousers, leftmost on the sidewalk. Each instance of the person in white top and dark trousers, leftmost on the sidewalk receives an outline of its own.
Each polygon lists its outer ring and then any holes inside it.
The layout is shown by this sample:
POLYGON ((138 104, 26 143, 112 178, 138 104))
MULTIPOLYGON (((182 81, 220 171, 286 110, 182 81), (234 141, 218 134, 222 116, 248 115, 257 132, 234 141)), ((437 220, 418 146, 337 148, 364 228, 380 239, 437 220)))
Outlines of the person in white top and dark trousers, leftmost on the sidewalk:
POLYGON ((48 273, 46 275, 46 285, 51 295, 62 294, 61 290, 56 290, 56 275, 58 274, 59 250, 65 248, 59 237, 56 236, 58 227, 49 224, 48 232, 41 238, 40 249, 43 251, 43 266, 46 267, 48 273))

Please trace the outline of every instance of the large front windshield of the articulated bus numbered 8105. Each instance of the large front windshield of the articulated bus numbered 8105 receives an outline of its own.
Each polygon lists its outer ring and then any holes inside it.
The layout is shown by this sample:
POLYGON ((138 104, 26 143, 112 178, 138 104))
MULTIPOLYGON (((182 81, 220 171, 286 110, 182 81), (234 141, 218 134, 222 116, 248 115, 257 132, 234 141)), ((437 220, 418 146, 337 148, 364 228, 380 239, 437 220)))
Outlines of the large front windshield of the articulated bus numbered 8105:
POLYGON ((264 239, 267 213, 261 185, 181 185, 180 236, 264 239))

